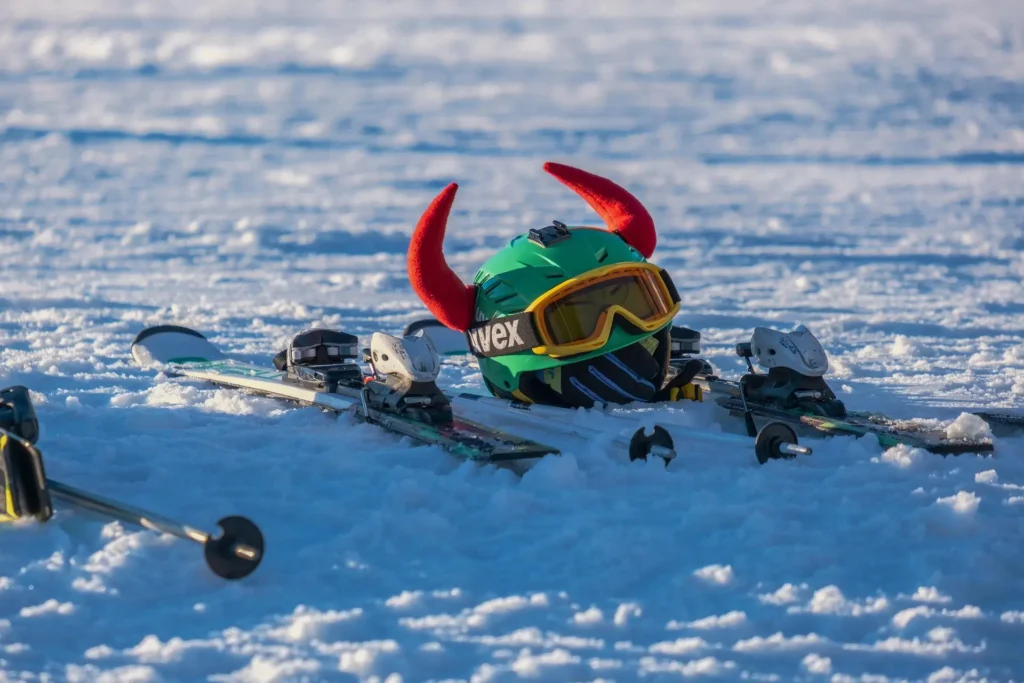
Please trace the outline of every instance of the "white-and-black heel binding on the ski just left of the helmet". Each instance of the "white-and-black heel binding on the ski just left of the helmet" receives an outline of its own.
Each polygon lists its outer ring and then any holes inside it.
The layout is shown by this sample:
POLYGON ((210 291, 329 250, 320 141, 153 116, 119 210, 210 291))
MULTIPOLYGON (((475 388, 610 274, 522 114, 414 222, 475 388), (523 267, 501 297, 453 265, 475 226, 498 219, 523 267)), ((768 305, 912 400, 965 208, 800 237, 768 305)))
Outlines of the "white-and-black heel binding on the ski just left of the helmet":
POLYGON ((364 412, 374 408, 429 424, 452 423, 452 403, 435 381, 440 357, 429 337, 399 338, 375 332, 364 360, 373 373, 362 388, 364 412))

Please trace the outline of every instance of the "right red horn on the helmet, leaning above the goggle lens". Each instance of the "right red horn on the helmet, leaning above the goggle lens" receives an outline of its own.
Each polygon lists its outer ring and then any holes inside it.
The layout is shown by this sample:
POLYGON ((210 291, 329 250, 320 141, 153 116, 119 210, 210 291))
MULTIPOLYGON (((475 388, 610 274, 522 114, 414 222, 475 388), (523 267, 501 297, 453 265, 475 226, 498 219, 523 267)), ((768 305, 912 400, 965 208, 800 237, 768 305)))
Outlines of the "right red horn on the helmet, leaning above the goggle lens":
POLYGON ((564 164, 548 162, 544 170, 582 197, 604 224, 628 245, 650 258, 657 245, 654 219, 640 200, 607 178, 564 164))

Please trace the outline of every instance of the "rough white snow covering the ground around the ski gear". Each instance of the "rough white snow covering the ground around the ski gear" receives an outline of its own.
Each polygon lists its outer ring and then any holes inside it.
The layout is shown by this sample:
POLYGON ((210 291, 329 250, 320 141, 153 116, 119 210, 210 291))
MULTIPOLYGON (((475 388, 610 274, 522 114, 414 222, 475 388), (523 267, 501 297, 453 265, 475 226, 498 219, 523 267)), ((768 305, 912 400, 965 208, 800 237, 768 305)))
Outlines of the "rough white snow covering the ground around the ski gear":
MULTIPOLYGON (((424 312, 408 238, 445 183, 465 278, 528 227, 597 220, 557 160, 647 204, 678 323, 726 374, 755 326, 802 323, 853 408, 1020 407, 1019 2, 0 17, 0 384, 35 392, 52 477, 267 538, 226 583, 191 544, 67 508, 7 525, 0 681, 1024 680, 1020 436, 987 459, 815 440, 765 467, 677 437, 666 470, 541 427, 565 455, 519 478, 128 356, 161 323, 252 360, 312 324, 400 331, 424 312)), ((481 389, 465 361, 442 381, 481 389)))

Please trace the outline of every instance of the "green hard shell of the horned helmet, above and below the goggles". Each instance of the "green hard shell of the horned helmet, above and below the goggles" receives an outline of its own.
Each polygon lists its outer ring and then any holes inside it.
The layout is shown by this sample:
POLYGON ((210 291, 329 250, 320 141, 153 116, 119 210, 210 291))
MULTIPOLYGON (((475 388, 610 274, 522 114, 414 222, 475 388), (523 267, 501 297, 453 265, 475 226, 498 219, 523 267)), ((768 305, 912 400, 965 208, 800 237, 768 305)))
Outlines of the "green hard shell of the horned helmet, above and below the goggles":
MULTIPOLYGON (((614 232, 604 228, 569 226, 568 239, 547 247, 520 234, 490 257, 476 273, 477 321, 521 313, 538 297, 590 270, 646 259, 614 232)), ((667 323, 664 327, 669 327, 667 323)), ((664 329, 664 327, 662 329, 664 329)), ((570 357, 555 358, 527 349, 518 353, 479 358, 484 379, 502 393, 519 388, 519 376, 617 351, 660 332, 630 333, 613 326, 601 348, 570 357)))

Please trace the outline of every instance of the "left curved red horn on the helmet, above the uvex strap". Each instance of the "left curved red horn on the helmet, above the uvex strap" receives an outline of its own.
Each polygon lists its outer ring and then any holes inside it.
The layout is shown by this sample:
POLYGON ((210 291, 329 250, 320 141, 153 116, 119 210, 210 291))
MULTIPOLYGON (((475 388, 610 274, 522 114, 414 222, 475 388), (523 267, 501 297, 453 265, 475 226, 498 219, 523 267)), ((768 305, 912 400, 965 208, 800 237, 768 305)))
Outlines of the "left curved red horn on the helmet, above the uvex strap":
POLYGON ((407 266, 413 289, 434 317, 453 330, 465 332, 473 324, 476 290, 452 271, 441 249, 458 189, 454 182, 442 189, 420 216, 409 244, 407 266))

